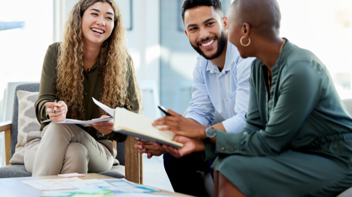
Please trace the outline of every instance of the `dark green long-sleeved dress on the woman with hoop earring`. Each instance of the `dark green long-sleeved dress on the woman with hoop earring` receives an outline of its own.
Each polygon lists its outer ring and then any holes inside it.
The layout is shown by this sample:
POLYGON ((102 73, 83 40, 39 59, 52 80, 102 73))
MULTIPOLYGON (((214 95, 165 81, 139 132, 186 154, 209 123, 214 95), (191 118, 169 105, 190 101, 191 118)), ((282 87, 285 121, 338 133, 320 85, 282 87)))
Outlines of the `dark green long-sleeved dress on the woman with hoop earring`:
POLYGON ((246 124, 205 143, 247 197, 336 196, 352 186, 352 117, 324 64, 288 40, 272 68, 252 63, 246 124))

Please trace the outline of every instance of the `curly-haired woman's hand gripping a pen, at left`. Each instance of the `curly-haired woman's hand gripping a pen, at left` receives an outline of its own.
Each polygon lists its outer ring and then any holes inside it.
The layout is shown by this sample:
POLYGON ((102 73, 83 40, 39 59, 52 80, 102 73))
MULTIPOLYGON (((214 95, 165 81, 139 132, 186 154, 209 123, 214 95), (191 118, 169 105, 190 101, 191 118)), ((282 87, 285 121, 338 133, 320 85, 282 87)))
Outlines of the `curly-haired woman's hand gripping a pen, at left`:
POLYGON ((64 101, 59 102, 46 102, 46 113, 52 121, 63 121, 67 114, 67 105, 64 101), (56 107, 56 113, 54 114, 54 107, 56 107))

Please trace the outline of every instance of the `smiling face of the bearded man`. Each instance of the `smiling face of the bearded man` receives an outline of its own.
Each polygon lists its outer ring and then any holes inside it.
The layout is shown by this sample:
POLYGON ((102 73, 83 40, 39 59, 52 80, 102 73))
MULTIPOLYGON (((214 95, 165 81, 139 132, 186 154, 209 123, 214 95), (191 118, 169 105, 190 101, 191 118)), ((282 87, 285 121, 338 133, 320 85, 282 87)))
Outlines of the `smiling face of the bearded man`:
POLYGON ((183 22, 192 47, 201 56, 205 59, 215 59, 221 55, 226 45, 226 26, 223 25, 220 14, 213 6, 187 9, 183 22))

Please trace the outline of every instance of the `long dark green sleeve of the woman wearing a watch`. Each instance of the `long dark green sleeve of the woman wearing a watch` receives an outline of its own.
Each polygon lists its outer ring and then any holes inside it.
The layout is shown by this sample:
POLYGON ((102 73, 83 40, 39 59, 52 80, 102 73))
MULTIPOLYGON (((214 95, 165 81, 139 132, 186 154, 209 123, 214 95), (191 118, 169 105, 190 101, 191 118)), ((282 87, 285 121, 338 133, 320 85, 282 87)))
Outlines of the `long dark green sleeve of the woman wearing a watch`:
MULTIPOLYGON (((286 73, 281 74, 280 96, 265 128, 252 130, 260 127, 256 124, 256 110, 250 111, 254 113, 250 115, 253 117, 247 120, 247 125, 240 133, 217 131, 216 154, 268 156, 278 155, 285 150, 318 102, 322 81, 319 71, 309 62, 295 62, 289 71, 283 72, 286 73)), ((251 105, 253 96, 251 94, 251 105)))

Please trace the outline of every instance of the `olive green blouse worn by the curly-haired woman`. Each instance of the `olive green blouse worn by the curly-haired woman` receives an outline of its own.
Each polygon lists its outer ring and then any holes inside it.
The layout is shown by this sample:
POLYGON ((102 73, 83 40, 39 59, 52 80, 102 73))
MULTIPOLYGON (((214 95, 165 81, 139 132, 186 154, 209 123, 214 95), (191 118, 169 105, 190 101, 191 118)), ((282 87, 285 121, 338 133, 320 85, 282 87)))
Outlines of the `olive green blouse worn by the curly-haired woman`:
MULTIPOLYGON (((42 77, 40 81, 40 89, 39 89, 39 96, 37 101, 35 102, 35 109, 36 109, 36 116, 39 122, 48 119, 46 113, 45 102, 53 102, 56 98, 56 67, 57 67, 57 56, 58 56, 58 49, 59 49, 59 42, 51 44, 45 54, 44 63, 43 63, 43 70, 42 70, 42 77)), ((96 62, 93 67, 88 71, 83 71, 83 75, 85 76, 84 80, 84 109, 85 109, 85 120, 99 118, 99 107, 93 102, 93 98, 99 100, 100 99, 100 89, 102 80, 99 76, 99 63, 96 62)), ((133 73, 132 73, 132 65, 129 64, 130 67, 130 78, 129 78, 129 87, 128 87, 128 96, 129 100, 132 100, 132 111, 138 112, 139 104, 136 98, 135 92, 135 84, 133 80, 133 73)), ((77 73, 78 75, 78 73, 77 73)), ((60 99, 60 98, 58 98, 60 99)), ((42 123, 40 130, 48 123, 42 123)), ((80 126, 80 125, 79 125, 80 126)), ((126 139, 125 135, 111 132, 109 135, 98 137, 97 134, 99 132, 93 127, 82 127, 85 131, 89 133, 95 139, 110 139, 116 141, 124 141, 126 139)))

